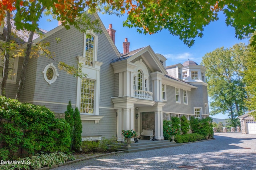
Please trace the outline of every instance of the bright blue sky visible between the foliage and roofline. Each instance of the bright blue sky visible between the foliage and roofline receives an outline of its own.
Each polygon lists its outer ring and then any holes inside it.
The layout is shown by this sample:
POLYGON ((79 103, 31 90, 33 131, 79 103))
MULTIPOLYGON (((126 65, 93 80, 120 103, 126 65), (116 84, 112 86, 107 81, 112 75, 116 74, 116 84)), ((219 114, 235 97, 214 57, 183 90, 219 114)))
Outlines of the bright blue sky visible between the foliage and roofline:
MULTIPOLYGON (((168 30, 163 30, 153 35, 139 34, 136 28, 124 28, 122 22, 124 17, 110 16, 99 14, 106 29, 112 24, 116 30, 115 44, 120 52, 123 52, 123 42, 128 38, 130 42, 130 51, 150 45, 155 53, 164 55, 168 60, 167 65, 184 63, 190 59, 200 64, 202 57, 216 48, 232 47, 236 43, 248 43, 248 40, 238 40, 235 38, 235 30, 231 26, 226 26, 225 17, 219 14, 220 19, 210 23, 204 28, 203 37, 196 38, 192 47, 185 45, 178 37, 169 34, 168 30)), ((58 22, 46 22, 46 18, 42 18, 39 23, 40 28, 44 30, 52 30, 58 25, 58 22)), ((226 119, 227 115, 218 114, 212 116, 218 119, 226 119)))

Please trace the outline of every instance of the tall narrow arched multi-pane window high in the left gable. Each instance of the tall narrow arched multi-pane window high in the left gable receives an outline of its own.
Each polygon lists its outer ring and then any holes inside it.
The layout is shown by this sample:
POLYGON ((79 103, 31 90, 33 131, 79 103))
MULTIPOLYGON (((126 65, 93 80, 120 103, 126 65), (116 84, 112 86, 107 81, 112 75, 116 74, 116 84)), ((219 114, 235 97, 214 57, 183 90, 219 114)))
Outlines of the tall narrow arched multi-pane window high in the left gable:
POLYGON ((93 64, 93 53, 94 53, 94 37, 90 34, 86 35, 86 46, 85 46, 85 58, 86 65, 92 66, 93 64))

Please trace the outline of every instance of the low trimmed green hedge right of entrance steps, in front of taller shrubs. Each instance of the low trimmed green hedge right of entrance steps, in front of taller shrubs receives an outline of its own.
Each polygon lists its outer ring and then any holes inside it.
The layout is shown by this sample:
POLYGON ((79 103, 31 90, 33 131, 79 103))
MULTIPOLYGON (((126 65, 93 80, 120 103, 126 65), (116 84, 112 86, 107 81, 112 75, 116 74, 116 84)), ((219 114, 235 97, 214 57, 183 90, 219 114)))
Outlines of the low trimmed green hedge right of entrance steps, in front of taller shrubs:
POLYGON ((189 134, 183 134, 183 135, 178 134, 174 138, 174 141, 176 143, 195 142, 198 140, 204 140, 204 136, 197 133, 189 133, 189 134))

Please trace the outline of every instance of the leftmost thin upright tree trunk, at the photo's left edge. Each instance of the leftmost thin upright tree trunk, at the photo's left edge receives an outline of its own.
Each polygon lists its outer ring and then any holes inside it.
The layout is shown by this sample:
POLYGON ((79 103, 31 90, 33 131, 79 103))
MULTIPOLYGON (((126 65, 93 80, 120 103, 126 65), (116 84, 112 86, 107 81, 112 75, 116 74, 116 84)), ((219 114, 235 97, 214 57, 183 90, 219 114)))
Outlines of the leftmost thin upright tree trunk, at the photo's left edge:
POLYGON ((7 34, 6 34, 6 48, 4 49, 4 69, 3 69, 3 76, 1 80, 1 89, 0 95, 6 96, 6 82, 8 78, 8 67, 9 67, 9 57, 10 57, 10 39, 12 33, 12 25, 11 25, 11 14, 10 11, 6 11, 6 24, 7 24, 7 34))

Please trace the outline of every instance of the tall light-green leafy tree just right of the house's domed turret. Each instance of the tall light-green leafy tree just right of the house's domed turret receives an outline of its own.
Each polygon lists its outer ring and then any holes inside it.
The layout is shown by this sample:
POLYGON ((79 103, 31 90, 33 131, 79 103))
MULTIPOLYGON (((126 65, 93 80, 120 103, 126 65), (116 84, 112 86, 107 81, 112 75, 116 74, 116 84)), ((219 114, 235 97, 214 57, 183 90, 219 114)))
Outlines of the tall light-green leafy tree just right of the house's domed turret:
POLYGON ((202 58, 202 65, 208 68, 206 79, 208 95, 211 98, 211 115, 227 113, 234 120, 246 111, 241 64, 245 55, 246 46, 240 43, 230 49, 215 49, 202 58))

